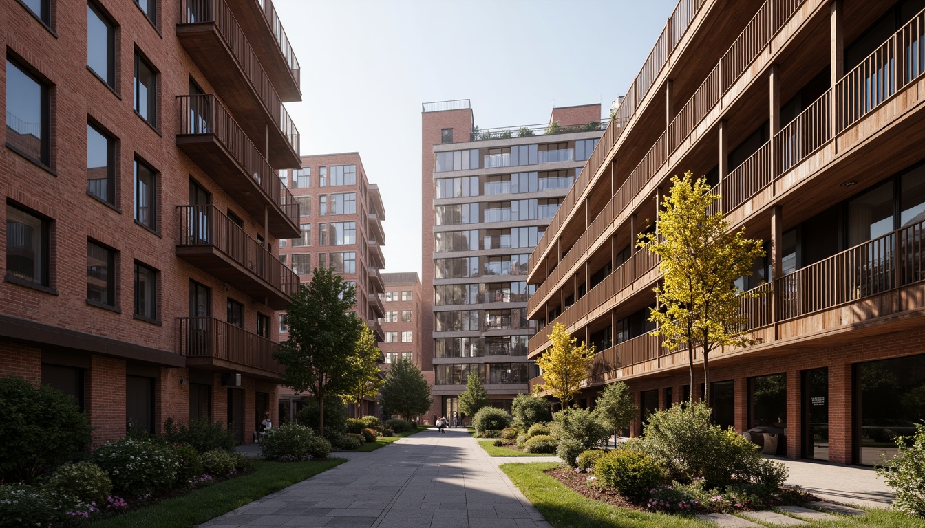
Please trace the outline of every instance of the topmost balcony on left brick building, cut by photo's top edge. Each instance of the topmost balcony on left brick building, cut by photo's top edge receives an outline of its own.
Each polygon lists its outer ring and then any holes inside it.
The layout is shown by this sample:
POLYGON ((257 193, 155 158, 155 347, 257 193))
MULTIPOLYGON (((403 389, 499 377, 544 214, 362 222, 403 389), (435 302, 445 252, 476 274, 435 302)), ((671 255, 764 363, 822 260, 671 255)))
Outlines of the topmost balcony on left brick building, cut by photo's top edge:
POLYGON ((227 1, 279 96, 283 101, 300 101, 302 71, 272 0, 227 1))

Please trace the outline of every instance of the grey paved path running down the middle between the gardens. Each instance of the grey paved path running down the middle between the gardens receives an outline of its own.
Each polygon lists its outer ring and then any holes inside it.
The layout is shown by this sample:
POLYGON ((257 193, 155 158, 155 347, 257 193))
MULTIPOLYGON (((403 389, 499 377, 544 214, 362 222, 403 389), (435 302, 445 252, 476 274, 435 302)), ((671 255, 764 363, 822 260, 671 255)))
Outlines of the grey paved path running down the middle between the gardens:
POLYGON ((356 453, 203 526, 551 528, 465 429, 446 431, 356 453))

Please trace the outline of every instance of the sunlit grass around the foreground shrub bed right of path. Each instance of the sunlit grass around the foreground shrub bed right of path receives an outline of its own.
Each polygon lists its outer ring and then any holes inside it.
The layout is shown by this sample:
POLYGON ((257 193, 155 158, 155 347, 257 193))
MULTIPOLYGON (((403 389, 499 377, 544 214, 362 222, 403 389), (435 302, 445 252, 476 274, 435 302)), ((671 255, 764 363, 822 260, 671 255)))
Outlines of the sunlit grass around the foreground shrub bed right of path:
MULTIPOLYGON (((716 527, 696 518, 625 510, 582 497, 544 471, 554 462, 508 463, 501 465, 514 485, 555 528, 674 528, 678 526, 716 527)), ((863 517, 839 517, 837 521, 810 522, 819 528, 925 528, 925 519, 892 510, 870 510, 863 517)))

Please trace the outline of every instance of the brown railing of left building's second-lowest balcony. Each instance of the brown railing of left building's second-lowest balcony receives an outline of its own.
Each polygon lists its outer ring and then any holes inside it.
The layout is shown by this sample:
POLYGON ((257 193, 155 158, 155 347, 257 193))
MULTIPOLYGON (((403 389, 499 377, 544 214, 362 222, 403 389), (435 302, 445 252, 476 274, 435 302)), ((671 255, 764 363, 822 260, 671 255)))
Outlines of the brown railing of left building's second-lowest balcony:
POLYGON ((215 246, 266 283, 291 296, 299 276, 215 205, 178 205, 181 246, 215 246))

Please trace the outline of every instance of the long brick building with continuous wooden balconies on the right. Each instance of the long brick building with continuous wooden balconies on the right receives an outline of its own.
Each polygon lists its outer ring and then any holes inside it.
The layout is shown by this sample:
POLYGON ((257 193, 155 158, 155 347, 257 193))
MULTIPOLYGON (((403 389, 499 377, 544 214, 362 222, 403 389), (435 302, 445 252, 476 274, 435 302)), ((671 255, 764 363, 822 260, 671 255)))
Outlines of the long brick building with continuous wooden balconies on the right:
POLYGON ((553 323, 594 343, 580 401, 627 382, 634 435, 688 397, 686 351, 648 334, 659 263, 634 242, 691 170, 767 250, 740 281, 764 292, 742 302, 760 344, 711 356, 717 423, 790 458, 891 452, 925 418, 923 8, 681 0, 530 257, 529 357, 553 323))

